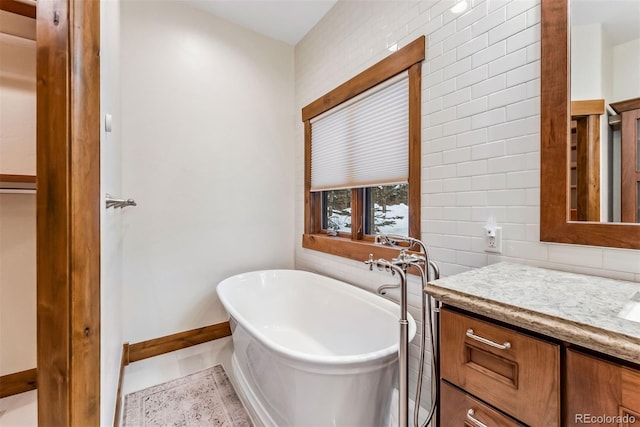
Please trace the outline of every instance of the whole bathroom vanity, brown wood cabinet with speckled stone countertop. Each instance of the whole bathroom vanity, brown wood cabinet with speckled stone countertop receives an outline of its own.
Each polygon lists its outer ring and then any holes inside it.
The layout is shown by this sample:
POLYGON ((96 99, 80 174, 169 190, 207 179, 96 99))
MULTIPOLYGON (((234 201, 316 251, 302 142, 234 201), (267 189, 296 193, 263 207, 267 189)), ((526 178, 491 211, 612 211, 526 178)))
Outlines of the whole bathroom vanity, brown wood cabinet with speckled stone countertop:
POLYGON ((430 282, 439 425, 640 427, 638 286, 512 263, 430 282))

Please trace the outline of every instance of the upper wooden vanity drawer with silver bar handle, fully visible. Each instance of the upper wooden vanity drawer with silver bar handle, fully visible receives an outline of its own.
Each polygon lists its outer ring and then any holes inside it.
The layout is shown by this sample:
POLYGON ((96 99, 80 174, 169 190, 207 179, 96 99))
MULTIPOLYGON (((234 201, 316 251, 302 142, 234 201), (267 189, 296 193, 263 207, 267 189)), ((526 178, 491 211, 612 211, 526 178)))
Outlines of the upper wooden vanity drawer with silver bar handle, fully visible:
POLYGON ((442 378, 532 427, 560 425, 559 345, 446 308, 440 337, 442 378))

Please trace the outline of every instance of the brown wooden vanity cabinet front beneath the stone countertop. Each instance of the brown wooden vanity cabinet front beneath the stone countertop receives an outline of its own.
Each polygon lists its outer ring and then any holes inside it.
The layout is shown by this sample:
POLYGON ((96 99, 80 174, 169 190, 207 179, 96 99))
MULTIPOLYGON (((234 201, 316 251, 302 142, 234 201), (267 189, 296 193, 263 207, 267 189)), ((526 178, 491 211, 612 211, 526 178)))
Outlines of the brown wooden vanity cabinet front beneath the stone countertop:
POLYGON ((443 307, 440 425, 640 427, 640 370, 564 347, 443 307))

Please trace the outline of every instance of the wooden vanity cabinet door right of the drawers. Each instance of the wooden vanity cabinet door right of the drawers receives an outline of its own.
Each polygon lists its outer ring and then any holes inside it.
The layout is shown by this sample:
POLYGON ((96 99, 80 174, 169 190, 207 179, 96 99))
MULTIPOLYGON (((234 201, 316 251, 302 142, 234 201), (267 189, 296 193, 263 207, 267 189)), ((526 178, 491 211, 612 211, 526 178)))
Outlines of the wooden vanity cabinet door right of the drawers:
POLYGON ((571 349, 566 369, 564 425, 640 426, 639 370, 571 349))

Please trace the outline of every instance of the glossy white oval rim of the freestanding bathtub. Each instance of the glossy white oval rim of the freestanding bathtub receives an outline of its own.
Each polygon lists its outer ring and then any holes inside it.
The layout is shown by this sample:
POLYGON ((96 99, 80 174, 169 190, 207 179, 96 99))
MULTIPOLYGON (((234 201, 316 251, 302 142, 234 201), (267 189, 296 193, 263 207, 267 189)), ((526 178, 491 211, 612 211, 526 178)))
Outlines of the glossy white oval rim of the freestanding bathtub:
MULTIPOLYGON (((244 272, 244 273, 239 273, 239 274, 234 274, 232 276, 229 276, 223 280, 221 280, 218 285, 216 286, 216 293, 218 295, 218 298, 220 299, 220 301, 222 302, 222 305, 224 306, 224 308, 227 310, 229 317, 233 318, 236 322, 238 322, 241 327, 243 329, 245 329, 249 334, 251 334, 255 339, 259 340, 260 343, 262 343, 264 346, 266 346, 267 348, 269 348, 270 350, 280 354, 283 357, 286 357, 288 359, 291 359, 293 361, 296 362, 307 362, 307 363, 312 363, 312 364, 319 364, 319 365, 341 365, 344 367, 347 367, 349 365, 358 365, 358 364, 366 364, 366 363, 380 363, 383 360, 387 360, 388 363, 388 359, 392 359, 392 358, 396 358, 398 355, 398 350, 400 347, 400 318, 399 318, 399 305, 394 303, 393 301, 390 301, 386 298, 383 298, 380 295, 374 294, 373 292, 369 292, 363 288, 360 288, 356 285, 352 285, 351 283, 345 282, 344 280, 340 280, 340 279, 336 279, 330 276, 325 276, 323 274, 318 274, 318 273, 314 273, 311 271, 307 271, 307 270, 298 270, 298 269, 263 269, 263 270, 254 270, 254 271, 248 271, 248 272, 244 272), (334 284, 341 284, 344 285, 345 288, 344 289, 348 289, 348 292, 353 292, 356 294, 357 297, 361 297, 365 300, 368 300, 369 302, 376 304, 378 306, 380 306, 381 308, 388 310, 391 312, 392 315, 394 316, 398 316, 397 317, 397 322, 398 322, 398 335, 397 335, 397 342, 393 345, 384 347, 382 349, 379 350, 375 350, 375 351, 370 351, 367 353, 359 353, 359 354, 353 354, 353 355, 336 355, 336 356, 328 356, 328 355, 314 355, 314 354, 309 354, 309 353, 304 353, 301 351, 296 351, 296 350, 292 350, 289 349, 283 345, 280 345, 278 343, 274 343, 269 339, 265 339, 264 338, 264 334, 257 328, 255 328, 251 322, 249 322, 244 316, 242 316, 241 314, 238 313, 238 311, 233 307, 233 304, 231 304, 228 299, 226 298, 226 296, 224 295, 224 292, 220 292, 220 286, 228 286, 228 285, 223 285, 225 282, 231 282, 232 279, 237 279, 240 278, 240 276, 246 276, 246 275, 258 275, 261 273, 280 273, 280 272, 285 272, 285 273, 290 273, 290 272, 295 272, 295 274, 305 274, 305 275, 312 275, 315 277, 319 277, 323 280, 327 280, 329 282, 333 282, 334 284), (396 313, 397 311, 397 313, 396 313)), ((411 316, 410 313, 407 313, 407 320, 409 321, 409 342, 411 342, 415 335, 416 335, 416 322, 413 319, 413 316, 411 316)), ((232 334, 233 335, 233 334, 232 334)))

